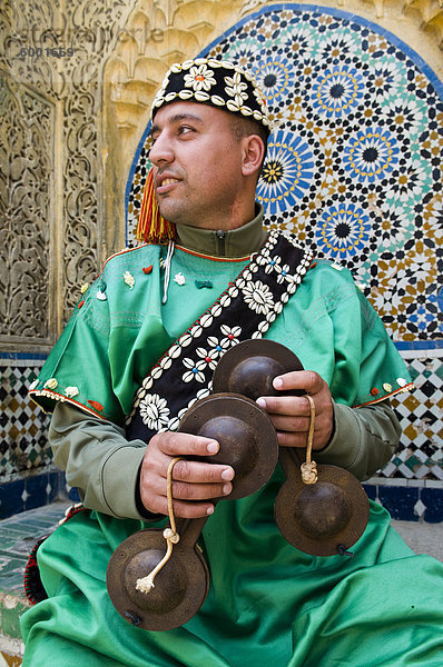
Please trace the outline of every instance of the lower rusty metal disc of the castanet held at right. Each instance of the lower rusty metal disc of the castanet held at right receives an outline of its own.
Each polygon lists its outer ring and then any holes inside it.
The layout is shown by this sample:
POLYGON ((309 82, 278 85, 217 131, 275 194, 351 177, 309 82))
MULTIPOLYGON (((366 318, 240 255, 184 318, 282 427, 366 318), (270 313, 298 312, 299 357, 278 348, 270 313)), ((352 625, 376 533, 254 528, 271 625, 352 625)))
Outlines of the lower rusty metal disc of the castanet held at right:
POLYGON ((294 467, 275 501, 275 520, 287 541, 312 556, 334 556, 363 535, 370 502, 360 481, 343 468, 318 465, 318 480, 306 485, 294 467))

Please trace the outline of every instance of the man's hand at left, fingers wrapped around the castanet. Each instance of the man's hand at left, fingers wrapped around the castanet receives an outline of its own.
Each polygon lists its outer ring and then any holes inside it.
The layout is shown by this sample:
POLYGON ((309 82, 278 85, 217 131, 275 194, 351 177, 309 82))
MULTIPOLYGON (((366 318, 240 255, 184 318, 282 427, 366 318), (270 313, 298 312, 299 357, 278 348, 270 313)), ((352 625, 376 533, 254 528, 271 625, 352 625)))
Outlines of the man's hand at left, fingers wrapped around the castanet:
MULTIPOLYGON (((148 511, 168 514, 167 472, 173 458, 217 454, 216 440, 166 431, 154 436, 148 444, 140 474, 140 497, 148 511)), ((218 464, 183 459, 173 470, 174 514, 196 519, 213 514, 210 498, 230 494, 234 468, 218 464)))

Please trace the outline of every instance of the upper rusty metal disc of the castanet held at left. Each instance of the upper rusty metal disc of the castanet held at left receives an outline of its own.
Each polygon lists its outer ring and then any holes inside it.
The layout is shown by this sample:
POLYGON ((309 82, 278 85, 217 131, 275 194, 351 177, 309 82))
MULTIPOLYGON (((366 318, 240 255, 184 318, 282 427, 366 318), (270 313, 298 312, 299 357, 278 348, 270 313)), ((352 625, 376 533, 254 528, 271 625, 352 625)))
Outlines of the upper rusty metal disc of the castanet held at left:
POLYGON ((275 428, 266 412, 245 396, 214 394, 198 400, 187 410, 178 430, 219 442, 215 456, 199 460, 234 468, 233 490, 225 496, 228 500, 254 494, 274 472, 278 459, 275 428))

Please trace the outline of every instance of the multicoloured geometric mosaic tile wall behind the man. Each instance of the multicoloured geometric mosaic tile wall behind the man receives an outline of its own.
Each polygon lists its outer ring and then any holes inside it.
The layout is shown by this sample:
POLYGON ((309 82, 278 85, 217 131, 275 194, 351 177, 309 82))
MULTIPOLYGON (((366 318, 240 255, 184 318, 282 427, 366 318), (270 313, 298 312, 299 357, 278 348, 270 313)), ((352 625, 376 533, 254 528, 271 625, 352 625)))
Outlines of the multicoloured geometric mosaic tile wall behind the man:
MULTIPOLYGON (((267 223, 353 271, 415 380, 395 401, 401 447, 368 492, 395 518, 443 520, 442 82, 375 23, 293 3, 247 17, 201 54, 249 67, 267 98, 275 127, 258 187, 267 223)), ((148 129, 128 181, 128 243, 148 129)), ((9 482, 0 509, 17 496, 16 511, 63 486, 50 478, 48 418, 26 398, 42 359, 24 357, 0 355, 0 482, 9 482)))

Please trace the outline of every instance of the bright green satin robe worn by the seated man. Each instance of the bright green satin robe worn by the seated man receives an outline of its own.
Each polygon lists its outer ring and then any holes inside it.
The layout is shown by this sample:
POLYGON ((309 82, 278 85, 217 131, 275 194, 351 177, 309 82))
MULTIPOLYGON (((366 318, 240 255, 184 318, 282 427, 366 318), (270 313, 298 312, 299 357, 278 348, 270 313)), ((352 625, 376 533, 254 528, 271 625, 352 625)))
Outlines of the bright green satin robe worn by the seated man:
MULTIPOLYGON (((161 255, 165 248, 149 246, 108 261, 33 390, 45 408, 63 398, 121 425, 150 367, 247 261, 177 249, 163 306, 161 255), (185 285, 174 280, 178 273, 185 285), (213 287, 199 288, 196 280, 213 287), (106 300, 97 298, 102 290, 106 300), (57 386, 48 385, 53 379, 57 386)), ((407 384, 382 322, 350 273, 329 262, 308 270, 266 337, 319 372, 339 405, 383 400, 407 384)), ((166 633, 130 626, 106 589, 112 551, 146 524, 101 511, 76 515, 39 549, 49 599, 22 617, 23 666, 440 667, 443 566, 415 556, 373 502, 353 558, 294 549, 274 521, 282 482, 277 467, 256 494, 217 505, 200 539, 210 569, 208 597, 189 623, 166 633)))

